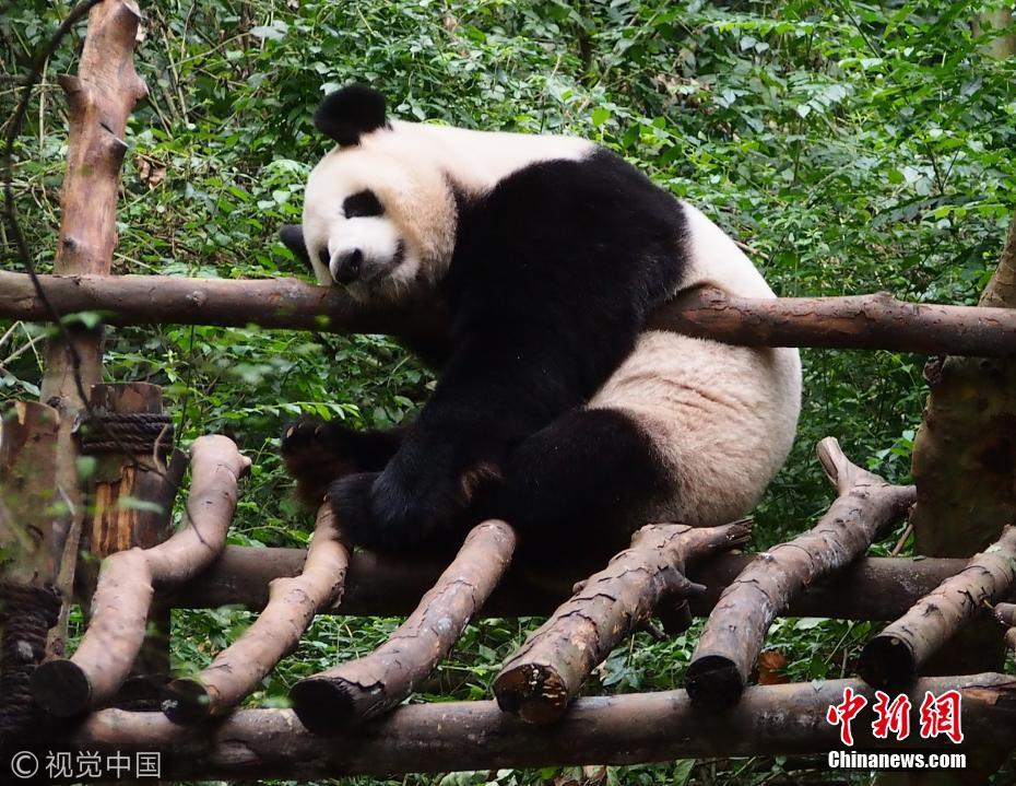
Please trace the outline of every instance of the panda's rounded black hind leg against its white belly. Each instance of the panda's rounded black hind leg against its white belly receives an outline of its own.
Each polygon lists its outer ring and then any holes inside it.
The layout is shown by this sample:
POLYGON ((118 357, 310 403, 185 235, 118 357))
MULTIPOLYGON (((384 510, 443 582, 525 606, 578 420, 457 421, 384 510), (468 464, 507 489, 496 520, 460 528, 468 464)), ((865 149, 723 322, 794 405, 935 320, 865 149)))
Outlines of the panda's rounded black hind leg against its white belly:
POLYGON ((670 498, 673 471, 638 423, 616 409, 569 412, 509 459, 495 509, 534 567, 598 568, 670 498))

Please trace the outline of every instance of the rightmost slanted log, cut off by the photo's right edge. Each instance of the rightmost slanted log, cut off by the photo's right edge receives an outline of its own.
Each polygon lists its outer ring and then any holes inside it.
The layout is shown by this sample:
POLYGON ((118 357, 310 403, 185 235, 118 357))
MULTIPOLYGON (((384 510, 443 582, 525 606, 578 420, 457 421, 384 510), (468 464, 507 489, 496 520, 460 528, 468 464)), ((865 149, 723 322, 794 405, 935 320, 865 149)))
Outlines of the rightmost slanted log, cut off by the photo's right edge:
POLYGON ((861 677, 883 690, 909 685, 943 644, 985 603, 1008 596, 1014 583, 1016 527, 1006 527, 999 541, 971 558, 962 572, 943 582, 864 645, 861 677))

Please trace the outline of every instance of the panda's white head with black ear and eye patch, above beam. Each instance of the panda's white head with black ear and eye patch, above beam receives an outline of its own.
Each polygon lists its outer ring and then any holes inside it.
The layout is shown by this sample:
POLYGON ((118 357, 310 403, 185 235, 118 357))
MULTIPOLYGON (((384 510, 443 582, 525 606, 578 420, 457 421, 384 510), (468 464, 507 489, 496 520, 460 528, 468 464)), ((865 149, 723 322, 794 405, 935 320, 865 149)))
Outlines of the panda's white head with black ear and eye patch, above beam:
POLYGON ((310 173, 304 200, 303 241, 318 281, 368 302, 438 281, 457 214, 427 134, 389 121, 383 96, 361 85, 328 95, 314 122, 336 142, 310 173))

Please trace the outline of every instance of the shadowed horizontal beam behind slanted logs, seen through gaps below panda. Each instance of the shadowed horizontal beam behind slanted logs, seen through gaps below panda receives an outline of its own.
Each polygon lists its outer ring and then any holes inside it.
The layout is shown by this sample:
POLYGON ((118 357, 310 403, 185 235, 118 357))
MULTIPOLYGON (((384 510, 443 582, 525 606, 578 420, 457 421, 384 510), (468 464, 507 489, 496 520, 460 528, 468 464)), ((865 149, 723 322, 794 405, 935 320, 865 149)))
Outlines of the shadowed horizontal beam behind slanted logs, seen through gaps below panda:
MULTIPOLYGON (((227 545, 223 555, 179 593, 161 600, 175 608, 206 609, 239 605, 252 610, 268 602, 268 585, 279 576, 295 576, 303 568, 303 549, 261 549, 227 545)), ((706 585, 692 601, 692 611, 707 615, 720 593, 751 562, 752 554, 723 554, 695 565, 688 578, 706 585)), ((787 613, 794 617, 835 617, 847 620, 895 620, 949 576, 966 560, 870 558, 859 560, 835 577, 796 596, 787 613)), ((405 615, 420 603, 445 568, 418 562, 380 560, 373 554, 352 555, 345 594, 331 614, 405 615)), ((481 611, 481 615, 546 615, 571 596, 581 575, 560 576, 548 584, 510 570, 481 611)))

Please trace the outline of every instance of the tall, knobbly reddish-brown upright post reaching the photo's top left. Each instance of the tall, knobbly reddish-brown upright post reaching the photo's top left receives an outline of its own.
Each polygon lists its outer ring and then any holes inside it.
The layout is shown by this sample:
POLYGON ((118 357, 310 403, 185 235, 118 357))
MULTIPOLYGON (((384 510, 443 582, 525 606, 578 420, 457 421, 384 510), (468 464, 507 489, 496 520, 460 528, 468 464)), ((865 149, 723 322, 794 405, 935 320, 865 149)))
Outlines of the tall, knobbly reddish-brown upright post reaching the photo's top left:
MULTIPOLYGON (((127 144, 127 118, 134 103, 147 94, 133 64, 134 39, 141 13, 134 0, 104 0, 88 13, 88 31, 78 75, 60 78, 67 94, 70 133, 67 176, 61 197, 62 219, 58 273, 109 273, 117 243, 116 210, 120 164, 127 144)), ((78 328, 68 341, 57 338, 46 351, 42 400, 61 414, 58 436, 57 484, 71 507, 57 539, 61 558, 57 586, 70 598, 84 509, 71 437, 74 415, 92 385, 102 379, 103 333, 78 328)), ((62 654, 67 607, 50 634, 48 650, 62 654)))

